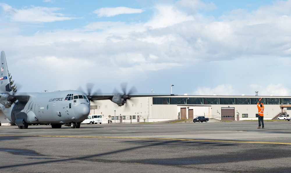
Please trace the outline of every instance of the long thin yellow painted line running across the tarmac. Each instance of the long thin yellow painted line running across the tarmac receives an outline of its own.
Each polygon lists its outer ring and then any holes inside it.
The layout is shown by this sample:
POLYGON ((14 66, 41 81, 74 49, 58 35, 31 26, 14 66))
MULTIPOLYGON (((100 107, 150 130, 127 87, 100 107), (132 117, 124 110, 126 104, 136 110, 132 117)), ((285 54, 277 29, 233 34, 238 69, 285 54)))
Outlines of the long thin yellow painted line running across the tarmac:
POLYGON ((0 135, 0 136, 39 136, 39 137, 65 137, 65 138, 119 138, 119 139, 153 139, 153 140, 182 140, 199 142, 230 142, 230 143, 256 143, 256 144, 283 144, 283 142, 261 142, 261 141, 236 141, 236 140, 204 140, 204 139, 175 139, 175 138, 141 138, 141 137, 109 137, 109 136, 58 136, 58 135, 0 135))

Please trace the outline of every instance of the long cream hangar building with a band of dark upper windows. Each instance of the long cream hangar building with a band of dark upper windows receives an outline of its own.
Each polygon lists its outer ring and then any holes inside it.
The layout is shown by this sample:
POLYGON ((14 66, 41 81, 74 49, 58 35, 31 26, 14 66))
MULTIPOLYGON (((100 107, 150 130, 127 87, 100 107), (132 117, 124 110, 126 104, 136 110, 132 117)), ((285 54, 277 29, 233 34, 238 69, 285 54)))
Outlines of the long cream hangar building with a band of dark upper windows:
POLYGON ((97 101, 91 114, 101 114, 103 121, 157 122, 205 116, 222 120, 256 120, 256 104, 262 98, 264 118, 275 119, 291 113, 291 96, 197 96, 131 98, 118 107, 110 100, 97 101), (109 118, 110 115, 110 118, 109 118))

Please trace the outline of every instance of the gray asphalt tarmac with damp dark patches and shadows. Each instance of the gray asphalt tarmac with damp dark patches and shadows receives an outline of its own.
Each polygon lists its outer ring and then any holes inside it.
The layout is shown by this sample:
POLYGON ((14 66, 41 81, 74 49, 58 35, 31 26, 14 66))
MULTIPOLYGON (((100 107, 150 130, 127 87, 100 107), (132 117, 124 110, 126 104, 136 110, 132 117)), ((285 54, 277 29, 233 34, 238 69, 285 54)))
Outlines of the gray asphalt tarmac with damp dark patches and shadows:
POLYGON ((0 172, 291 172, 291 121, 0 126, 0 172))

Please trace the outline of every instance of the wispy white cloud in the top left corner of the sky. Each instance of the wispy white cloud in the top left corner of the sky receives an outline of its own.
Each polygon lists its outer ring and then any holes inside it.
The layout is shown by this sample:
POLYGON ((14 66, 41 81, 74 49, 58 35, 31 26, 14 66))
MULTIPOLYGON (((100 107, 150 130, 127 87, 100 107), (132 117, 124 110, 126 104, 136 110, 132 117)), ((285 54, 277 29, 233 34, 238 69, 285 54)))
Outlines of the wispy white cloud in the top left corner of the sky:
POLYGON ((3 15, 16 22, 41 23, 77 19, 66 17, 62 13, 56 13, 56 11, 62 10, 62 8, 31 6, 30 8, 15 9, 3 3, 0 3, 0 6, 3 8, 3 15))

